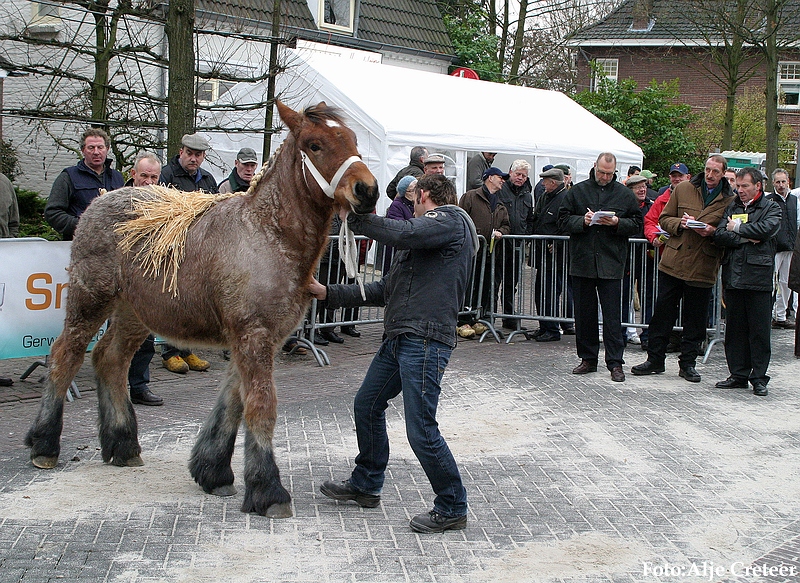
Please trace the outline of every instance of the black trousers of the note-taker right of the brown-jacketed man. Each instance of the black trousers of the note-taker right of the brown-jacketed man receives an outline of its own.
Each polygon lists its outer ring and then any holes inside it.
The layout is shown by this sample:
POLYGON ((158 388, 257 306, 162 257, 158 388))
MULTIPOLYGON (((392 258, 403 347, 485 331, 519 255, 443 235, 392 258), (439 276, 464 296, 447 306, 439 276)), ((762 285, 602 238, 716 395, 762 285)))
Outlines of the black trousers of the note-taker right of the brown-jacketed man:
POLYGON ((732 377, 769 382, 772 292, 725 290, 725 359, 732 377))

